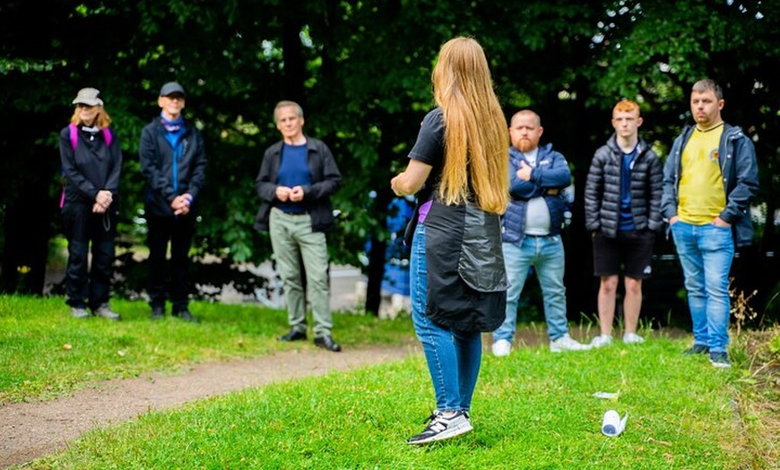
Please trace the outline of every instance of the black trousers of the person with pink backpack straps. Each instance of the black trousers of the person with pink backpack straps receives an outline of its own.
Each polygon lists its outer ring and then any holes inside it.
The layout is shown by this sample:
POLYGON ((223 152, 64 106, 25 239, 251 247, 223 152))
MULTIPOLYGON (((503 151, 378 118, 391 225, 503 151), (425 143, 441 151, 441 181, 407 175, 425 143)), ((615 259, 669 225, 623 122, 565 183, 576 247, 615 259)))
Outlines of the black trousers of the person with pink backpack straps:
POLYGON ((113 206, 106 213, 93 213, 92 205, 66 201, 62 214, 68 240, 65 302, 71 307, 97 309, 110 296, 117 213, 113 206))

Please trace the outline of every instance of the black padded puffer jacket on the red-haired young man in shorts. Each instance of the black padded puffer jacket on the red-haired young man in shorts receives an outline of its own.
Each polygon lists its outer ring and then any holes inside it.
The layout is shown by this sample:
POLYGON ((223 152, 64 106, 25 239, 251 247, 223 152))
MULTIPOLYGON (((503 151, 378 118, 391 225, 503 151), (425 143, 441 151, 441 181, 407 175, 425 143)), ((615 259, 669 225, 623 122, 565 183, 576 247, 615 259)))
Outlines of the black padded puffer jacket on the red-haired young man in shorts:
MULTIPOLYGON (((614 239, 620 222, 623 151, 615 135, 594 154, 585 182, 585 230, 614 239)), ((661 231, 662 168, 658 155, 639 139, 631 168, 631 215, 637 231, 661 231)))

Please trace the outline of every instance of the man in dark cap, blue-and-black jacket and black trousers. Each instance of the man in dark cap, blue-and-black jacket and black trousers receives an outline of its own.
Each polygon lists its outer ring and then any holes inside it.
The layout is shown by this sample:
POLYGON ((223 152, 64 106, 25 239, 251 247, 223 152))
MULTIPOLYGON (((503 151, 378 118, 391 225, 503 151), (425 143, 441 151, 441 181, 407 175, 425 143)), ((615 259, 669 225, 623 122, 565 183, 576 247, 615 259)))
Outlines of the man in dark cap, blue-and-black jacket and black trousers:
POLYGON ((204 187, 206 154, 200 131, 182 116, 185 96, 179 83, 162 85, 157 101, 160 116, 143 127, 138 152, 146 178, 147 294, 152 319, 165 318, 165 302, 170 298, 174 317, 196 322, 188 308, 187 271, 198 194, 204 187))

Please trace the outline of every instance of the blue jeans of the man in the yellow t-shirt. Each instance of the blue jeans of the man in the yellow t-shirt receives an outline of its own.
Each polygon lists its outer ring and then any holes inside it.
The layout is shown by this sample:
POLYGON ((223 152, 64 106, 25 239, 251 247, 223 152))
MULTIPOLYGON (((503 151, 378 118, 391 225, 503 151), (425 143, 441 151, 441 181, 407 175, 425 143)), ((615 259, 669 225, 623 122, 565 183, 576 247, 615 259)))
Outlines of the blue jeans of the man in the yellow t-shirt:
POLYGON ((729 270, 734 257, 730 227, 712 223, 672 224, 672 236, 685 275, 693 343, 725 353, 729 344, 729 270))

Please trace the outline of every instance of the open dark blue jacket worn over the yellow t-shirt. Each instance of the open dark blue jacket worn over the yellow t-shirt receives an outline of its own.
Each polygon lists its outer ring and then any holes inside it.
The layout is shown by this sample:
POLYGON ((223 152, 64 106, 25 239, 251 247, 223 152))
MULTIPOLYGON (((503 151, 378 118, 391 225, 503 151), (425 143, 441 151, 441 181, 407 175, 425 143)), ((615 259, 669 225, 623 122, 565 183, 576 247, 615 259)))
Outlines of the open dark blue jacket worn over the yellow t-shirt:
MULTIPOLYGON (((682 150, 688 144, 693 126, 685 126, 674 139, 672 151, 663 165, 663 196, 661 213, 668 221, 677 215, 679 203, 682 150)), ((726 205, 720 213, 724 222, 732 224, 732 236, 737 247, 753 241, 750 219, 750 199, 758 194, 758 163, 756 149, 740 126, 724 123, 724 133, 718 146, 718 164, 723 175, 726 205)))

